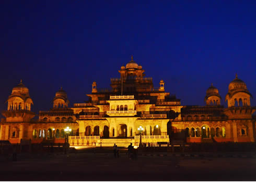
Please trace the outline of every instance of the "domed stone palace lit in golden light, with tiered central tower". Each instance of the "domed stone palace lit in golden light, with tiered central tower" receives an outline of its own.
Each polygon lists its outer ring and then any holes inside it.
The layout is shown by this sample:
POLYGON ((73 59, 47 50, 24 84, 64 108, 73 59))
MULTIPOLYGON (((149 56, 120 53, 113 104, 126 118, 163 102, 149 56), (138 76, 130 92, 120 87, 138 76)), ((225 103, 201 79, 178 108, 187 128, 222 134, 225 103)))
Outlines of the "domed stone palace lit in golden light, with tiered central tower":
POLYGON ((20 82, 9 96, 8 108, 2 114, 0 139, 12 143, 20 139, 32 142, 64 142, 64 128, 72 129, 69 143, 99 145, 104 142, 138 142, 143 128, 143 142, 187 140, 187 142, 252 142, 255 120, 246 84, 237 75, 228 86, 225 100, 213 85, 206 90, 206 106, 181 106, 180 99, 165 92, 165 82, 154 88, 151 77, 145 77, 142 66, 133 57, 119 70, 120 78, 111 79, 111 89, 101 90, 92 83, 85 103, 68 107, 66 92, 61 88, 50 111, 40 111, 34 120, 28 88, 20 82))

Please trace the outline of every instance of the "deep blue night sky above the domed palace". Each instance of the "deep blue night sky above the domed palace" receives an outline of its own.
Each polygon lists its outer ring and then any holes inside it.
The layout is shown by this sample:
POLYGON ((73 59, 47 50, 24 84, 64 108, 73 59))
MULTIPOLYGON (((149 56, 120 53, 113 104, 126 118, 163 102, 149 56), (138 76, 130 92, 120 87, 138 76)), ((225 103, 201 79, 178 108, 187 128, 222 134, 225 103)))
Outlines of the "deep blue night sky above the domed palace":
POLYGON ((34 112, 49 110, 61 86, 70 106, 83 102, 93 81, 110 87, 131 55, 182 105, 204 105, 211 83, 224 104, 236 73, 256 98, 256 1, 7 0, 0 7, 0 110, 20 79, 34 112))

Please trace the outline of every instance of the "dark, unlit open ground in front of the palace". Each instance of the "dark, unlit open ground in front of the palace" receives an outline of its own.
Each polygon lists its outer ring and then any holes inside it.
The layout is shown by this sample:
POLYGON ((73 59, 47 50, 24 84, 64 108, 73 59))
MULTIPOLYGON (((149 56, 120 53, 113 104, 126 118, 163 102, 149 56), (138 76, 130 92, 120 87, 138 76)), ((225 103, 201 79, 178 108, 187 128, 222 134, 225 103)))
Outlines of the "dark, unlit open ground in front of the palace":
POLYGON ((125 154, 18 154, 0 158, 1 180, 256 180, 255 158, 125 154))

